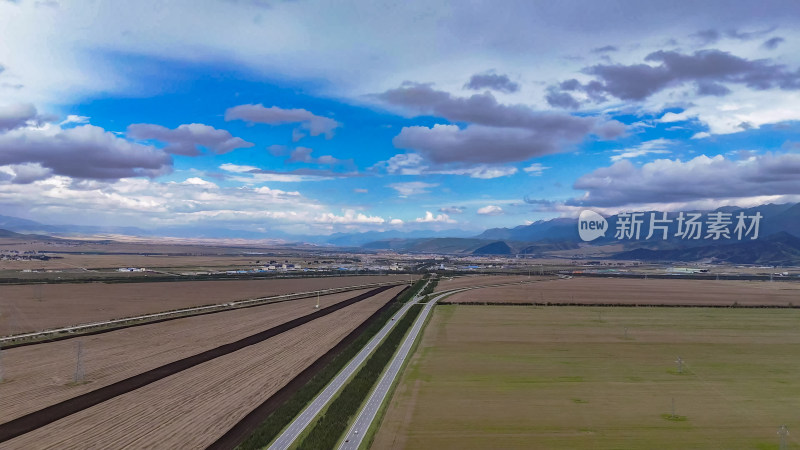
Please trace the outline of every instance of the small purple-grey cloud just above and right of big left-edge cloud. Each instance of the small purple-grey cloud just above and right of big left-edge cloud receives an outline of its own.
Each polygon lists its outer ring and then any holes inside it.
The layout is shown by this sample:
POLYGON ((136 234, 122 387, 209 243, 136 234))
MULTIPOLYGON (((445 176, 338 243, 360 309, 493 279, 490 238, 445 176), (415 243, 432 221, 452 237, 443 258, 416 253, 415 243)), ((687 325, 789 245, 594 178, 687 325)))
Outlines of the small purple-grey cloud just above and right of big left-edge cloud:
POLYGON ((165 152, 183 156, 199 156, 202 154, 202 148, 207 148, 219 155, 255 145, 231 136, 226 130, 218 130, 201 123, 184 124, 175 129, 161 125, 135 123, 128 127, 127 135, 134 139, 166 142, 165 152))

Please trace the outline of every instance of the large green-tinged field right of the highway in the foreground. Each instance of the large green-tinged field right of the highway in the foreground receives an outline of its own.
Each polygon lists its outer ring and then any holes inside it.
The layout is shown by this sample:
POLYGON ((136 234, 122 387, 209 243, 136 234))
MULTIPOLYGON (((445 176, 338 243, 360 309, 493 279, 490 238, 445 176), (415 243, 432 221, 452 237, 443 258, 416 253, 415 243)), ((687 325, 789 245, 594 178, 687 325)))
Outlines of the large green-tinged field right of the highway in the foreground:
POLYGON ((800 310, 448 305, 372 448, 778 449, 783 424, 800 448, 800 310))

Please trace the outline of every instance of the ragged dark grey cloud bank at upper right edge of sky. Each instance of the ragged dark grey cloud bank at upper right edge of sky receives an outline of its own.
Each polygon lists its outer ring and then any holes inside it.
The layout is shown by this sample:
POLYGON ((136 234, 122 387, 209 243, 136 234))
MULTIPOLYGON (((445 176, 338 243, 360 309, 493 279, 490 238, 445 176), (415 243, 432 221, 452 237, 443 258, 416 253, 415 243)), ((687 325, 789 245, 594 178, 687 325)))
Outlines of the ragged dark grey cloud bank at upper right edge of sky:
POLYGON ((553 93, 583 91, 590 96, 609 94, 621 100, 638 101, 685 83, 698 84, 702 95, 717 96, 728 92, 721 83, 741 84, 756 90, 800 89, 800 70, 792 71, 765 59, 750 60, 716 49, 692 54, 659 50, 647 55, 644 62, 587 67, 584 72, 594 75, 596 80, 587 84, 562 83, 558 89, 551 90, 553 93))

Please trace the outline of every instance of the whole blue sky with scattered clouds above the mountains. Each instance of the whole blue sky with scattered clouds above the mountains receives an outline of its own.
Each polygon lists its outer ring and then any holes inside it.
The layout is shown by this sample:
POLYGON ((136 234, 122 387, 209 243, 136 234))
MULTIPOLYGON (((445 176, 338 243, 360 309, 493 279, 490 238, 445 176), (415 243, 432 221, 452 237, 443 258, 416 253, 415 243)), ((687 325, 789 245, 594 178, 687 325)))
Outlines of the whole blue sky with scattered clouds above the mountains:
POLYGON ((262 233, 800 201, 800 2, 0 0, 0 214, 262 233))

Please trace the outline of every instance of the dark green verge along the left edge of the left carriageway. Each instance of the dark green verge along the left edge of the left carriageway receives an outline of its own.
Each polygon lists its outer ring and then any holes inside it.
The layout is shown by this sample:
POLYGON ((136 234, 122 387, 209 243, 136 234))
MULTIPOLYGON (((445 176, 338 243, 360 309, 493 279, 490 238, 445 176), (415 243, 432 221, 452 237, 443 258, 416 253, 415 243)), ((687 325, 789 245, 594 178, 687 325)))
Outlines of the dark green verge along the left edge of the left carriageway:
MULTIPOLYGON (((408 289, 403 291, 408 292, 408 289)), ((402 295, 402 294, 401 294, 402 295)), ((399 299, 399 297, 398 297, 399 299)), ((350 345, 336 355, 319 373, 314 375, 289 400, 283 403, 256 428, 253 433, 239 444, 237 449, 260 449, 272 442, 284 428, 317 396, 325 386, 352 360, 359 351, 380 331, 386 322, 401 307, 400 301, 394 301, 384 310, 380 317, 373 321, 350 345)))

